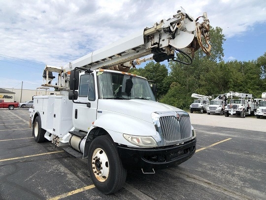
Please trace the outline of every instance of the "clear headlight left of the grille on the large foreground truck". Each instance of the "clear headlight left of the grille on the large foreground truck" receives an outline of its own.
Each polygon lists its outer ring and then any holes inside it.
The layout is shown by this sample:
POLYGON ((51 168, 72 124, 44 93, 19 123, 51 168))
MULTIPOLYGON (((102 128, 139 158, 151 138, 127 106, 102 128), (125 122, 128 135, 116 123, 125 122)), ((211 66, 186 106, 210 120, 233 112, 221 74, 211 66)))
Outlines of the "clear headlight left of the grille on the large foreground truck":
POLYGON ((135 135, 123 135, 130 143, 139 147, 158 147, 157 142, 151 136, 135 136, 135 135))

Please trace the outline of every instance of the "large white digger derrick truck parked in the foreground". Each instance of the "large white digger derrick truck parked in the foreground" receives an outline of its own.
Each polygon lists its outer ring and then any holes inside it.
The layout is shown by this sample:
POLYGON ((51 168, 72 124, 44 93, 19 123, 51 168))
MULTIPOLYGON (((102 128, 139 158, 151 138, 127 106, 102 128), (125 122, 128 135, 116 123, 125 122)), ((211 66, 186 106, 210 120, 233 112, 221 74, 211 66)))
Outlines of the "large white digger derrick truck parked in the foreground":
POLYGON ((206 13, 200 17, 201 23, 178 10, 172 18, 65 66, 46 65, 42 86, 60 94, 33 97, 35 141, 49 140, 88 158, 90 177, 104 194, 123 187, 127 169, 155 173, 190 159, 196 133, 188 113, 156 102, 149 82, 128 71, 146 60, 190 64, 189 55, 200 47, 209 54, 209 21, 206 13), (58 73, 56 84, 53 72, 58 73))

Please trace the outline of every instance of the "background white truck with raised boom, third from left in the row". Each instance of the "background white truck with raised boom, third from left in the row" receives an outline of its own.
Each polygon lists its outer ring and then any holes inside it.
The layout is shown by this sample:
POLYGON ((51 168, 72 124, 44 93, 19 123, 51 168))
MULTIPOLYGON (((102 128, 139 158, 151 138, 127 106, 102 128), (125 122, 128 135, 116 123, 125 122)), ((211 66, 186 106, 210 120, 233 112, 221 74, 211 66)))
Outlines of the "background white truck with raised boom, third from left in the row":
POLYGON ((229 99, 225 107, 225 117, 229 115, 240 115, 240 118, 245 118, 246 115, 254 116, 257 105, 252 99, 252 94, 230 91, 225 95, 226 99, 229 99))

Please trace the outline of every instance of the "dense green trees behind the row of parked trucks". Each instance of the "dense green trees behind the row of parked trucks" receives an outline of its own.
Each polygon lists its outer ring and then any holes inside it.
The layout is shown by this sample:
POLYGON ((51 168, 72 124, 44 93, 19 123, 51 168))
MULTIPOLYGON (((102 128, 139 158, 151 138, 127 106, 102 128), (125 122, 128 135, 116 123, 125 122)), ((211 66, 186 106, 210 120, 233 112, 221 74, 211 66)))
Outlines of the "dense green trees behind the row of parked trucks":
POLYGON ((220 27, 210 29, 211 55, 195 52, 191 65, 170 61, 165 64, 149 62, 144 68, 130 73, 157 83, 157 100, 181 109, 188 109, 192 93, 217 95, 229 91, 253 94, 261 98, 266 92, 266 53, 252 61, 223 61, 226 40, 220 27))

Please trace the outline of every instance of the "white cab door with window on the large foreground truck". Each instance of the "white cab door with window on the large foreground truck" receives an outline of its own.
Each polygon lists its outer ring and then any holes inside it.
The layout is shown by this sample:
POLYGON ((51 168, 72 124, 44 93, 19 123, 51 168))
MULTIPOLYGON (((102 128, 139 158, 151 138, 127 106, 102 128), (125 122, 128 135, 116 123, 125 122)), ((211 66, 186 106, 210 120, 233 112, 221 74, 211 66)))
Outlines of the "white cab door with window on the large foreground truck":
POLYGON ((84 131, 88 131, 92 122, 96 120, 98 94, 95 81, 94 73, 80 76, 78 99, 76 100, 80 103, 73 104, 73 125, 84 131))

